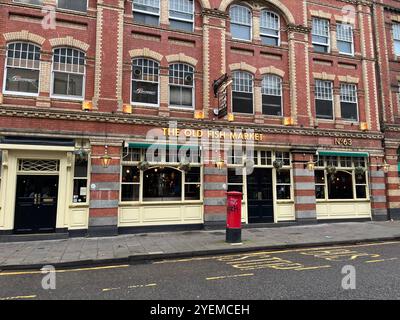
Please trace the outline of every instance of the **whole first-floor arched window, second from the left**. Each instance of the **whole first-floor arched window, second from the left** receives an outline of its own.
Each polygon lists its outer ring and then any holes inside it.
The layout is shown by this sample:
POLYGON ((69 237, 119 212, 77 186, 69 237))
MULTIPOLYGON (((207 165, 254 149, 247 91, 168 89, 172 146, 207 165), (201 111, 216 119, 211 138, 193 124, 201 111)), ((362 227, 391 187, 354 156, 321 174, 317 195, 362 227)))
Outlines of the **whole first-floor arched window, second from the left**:
POLYGON ((53 96, 83 99, 85 53, 73 48, 57 48, 53 54, 53 96))

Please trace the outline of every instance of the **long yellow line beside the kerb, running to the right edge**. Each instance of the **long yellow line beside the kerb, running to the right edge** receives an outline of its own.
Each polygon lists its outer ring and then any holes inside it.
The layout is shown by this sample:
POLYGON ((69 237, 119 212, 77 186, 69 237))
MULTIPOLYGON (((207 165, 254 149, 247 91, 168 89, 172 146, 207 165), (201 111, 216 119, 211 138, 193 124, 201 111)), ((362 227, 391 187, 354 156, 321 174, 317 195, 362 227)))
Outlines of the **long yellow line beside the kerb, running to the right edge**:
POLYGON ((382 243, 365 243, 365 244, 343 245, 343 246, 324 246, 324 247, 312 247, 312 248, 303 248, 303 249, 287 249, 287 250, 275 250, 275 251, 272 250, 272 251, 258 251, 258 252, 256 251, 256 252, 248 252, 248 253, 241 253, 241 254, 229 254, 228 253, 228 254, 220 255, 220 256, 154 261, 153 264, 213 260, 213 259, 229 258, 229 256, 243 256, 243 255, 255 256, 255 255, 263 255, 263 254, 280 254, 280 253, 304 252, 304 251, 323 250, 323 249, 331 249, 332 250, 332 249, 359 248, 359 247, 374 247, 374 246, 376 247, 376 246, 390 245, 390 244, 400 244, 400 242, 390 241, 390 242, 382 242, 382 243))

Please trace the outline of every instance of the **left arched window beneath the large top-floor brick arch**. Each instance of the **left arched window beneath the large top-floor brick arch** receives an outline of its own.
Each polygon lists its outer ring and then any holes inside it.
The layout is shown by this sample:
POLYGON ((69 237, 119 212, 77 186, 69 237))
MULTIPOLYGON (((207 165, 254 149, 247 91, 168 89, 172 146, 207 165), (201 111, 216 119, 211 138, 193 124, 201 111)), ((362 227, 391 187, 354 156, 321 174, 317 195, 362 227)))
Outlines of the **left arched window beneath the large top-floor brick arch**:
POLYGON ((251 11, 244 6, 232 6, 230 9, 231 34, 233 39, 251 40, 251 11))

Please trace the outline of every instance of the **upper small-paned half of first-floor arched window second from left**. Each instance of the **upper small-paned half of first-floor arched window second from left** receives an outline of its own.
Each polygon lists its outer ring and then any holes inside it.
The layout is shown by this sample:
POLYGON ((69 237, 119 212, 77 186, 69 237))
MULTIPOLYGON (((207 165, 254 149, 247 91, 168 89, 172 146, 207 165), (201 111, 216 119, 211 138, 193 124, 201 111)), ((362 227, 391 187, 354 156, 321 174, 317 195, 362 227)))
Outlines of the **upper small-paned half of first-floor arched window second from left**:
POLYGON ((53 70, 68 73, 85 73, 85 53, 72 48, 57 48, 53 55, 53 70))

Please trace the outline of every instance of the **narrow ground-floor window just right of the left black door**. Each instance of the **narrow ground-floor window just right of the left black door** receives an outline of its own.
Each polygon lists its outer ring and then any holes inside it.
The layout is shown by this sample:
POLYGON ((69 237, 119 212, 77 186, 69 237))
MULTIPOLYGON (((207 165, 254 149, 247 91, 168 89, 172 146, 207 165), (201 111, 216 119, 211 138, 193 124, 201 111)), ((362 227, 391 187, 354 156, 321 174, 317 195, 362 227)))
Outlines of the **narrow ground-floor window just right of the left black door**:
POLYGON ((87 202, 88 158, 75 156, 73 203, 87 202))

